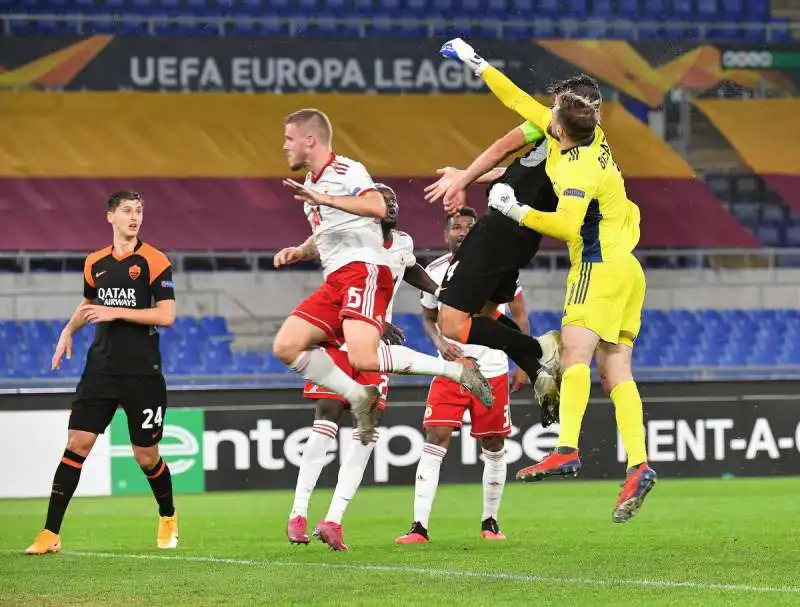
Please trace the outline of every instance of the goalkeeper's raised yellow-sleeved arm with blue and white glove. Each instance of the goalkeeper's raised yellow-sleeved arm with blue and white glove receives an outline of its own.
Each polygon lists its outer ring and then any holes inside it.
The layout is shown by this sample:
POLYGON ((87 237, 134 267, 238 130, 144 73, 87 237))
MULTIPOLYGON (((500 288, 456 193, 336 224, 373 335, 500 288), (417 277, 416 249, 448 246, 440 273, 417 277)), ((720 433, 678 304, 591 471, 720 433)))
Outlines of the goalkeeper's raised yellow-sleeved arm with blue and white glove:
POLYGON ((486 82, 495 97, 502 101, 506 107, 514 110, 542 131, 547 132, 547 125, 550 123, 552 116, 550 109, 519 88, 496 67, 490 65, 464 40, 454 38, 445 42, 440 53, 450 59, 459 59, 466 63, 477 75, 483 78, 483 81, 486 82))

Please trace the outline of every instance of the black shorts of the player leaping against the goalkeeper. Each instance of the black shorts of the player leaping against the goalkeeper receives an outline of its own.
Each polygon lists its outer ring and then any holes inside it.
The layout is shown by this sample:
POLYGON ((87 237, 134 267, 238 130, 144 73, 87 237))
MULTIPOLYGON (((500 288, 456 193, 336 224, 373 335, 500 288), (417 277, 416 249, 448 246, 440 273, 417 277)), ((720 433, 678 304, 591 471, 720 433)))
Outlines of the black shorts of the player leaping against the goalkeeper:
POLYGON ((479 314, 487 302, 514 299, 519 270, 527 266, 542 236, 489 209, 458 248, 442 282, 439 301, 479 314))

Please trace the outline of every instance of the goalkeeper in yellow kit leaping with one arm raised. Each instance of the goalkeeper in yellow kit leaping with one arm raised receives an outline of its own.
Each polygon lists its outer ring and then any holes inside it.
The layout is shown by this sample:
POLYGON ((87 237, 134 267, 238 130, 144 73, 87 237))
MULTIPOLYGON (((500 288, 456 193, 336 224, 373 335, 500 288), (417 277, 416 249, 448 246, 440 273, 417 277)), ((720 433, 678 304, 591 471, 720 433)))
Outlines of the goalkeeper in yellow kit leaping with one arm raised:
POLYGON ((489 206, 532 230, 564 240, 570 272, 561 340, 561 412, 558 447, 517 477, 541 480, 577 475, 578 437, 589 402, 589 365, 597 356, 604 388, 614 403, 617 426, 628 454, 627 479, 612 520, 638 512, 656 482, 647 465, 642 400, 632 373, 633 342, 641 327, 645 277, 633 250, 639 241, 639 208, 625 192, 619 167, 600 128, 601 95, 589 76, 570 78, 554 90, 547 108, 457 38, 442 47, 479 74, 507 107, 545 131, 546 170, 558 208, 546 213, 518 204, 511 188, 492 189, 489 206))

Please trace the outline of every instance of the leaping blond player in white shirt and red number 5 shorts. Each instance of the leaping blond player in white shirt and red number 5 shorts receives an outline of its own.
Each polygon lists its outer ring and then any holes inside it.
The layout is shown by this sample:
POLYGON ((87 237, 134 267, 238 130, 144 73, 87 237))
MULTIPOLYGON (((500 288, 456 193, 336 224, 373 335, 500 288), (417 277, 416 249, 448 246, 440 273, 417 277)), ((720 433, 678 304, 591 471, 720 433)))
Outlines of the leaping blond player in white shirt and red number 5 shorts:
POLYGON ((470 361, 445 361, 381 344, 394 287, 380 227, 386 202, 361 163, 333 153, 332 133, 328 117, 319 110, 298 110, 284 121, 289 166, 309 173, 304 184, 291 179, 283 183, 304 203, 313 230, 312 240, 288 249, 285 263, 303 259, 313 244, 325 281, 284 321, 273 352, 307 381, 351 404, 363 444, 375 429, 380 390, 349 377, 319 344, 346 343, 350 365, 359 372, 443 375, 491 406, 491 388, 470 361))

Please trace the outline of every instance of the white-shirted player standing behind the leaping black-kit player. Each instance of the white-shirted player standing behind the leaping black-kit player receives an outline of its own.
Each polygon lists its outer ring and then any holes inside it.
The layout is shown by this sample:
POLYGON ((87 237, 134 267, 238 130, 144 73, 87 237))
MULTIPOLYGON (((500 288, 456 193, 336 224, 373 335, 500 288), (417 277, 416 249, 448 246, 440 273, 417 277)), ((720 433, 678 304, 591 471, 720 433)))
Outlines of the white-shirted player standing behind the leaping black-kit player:
MULTIPOLYGON (((469 207, 456 211, 448 217, 445 227, 445 242, 450 253, 431 263, 426 271, 438 284, 445 280, 450 271, 451 258, 455 255, 467 233, 477 221, 477 214, 469 207)), ((481 373, 488 378, 494 392, 494 405, 491 409, 480 406, 471 394, 465 393, 458 384, 437 377, 431 383, 423 427, 425 445, 417 464, 414 494, 414 522, 410 531, 395 542, 398 544, 417 544, 429 541, 428 521, 433 499, 439 485, 439 470, 447 454, 454 430, 461 428, 464 414, 470 412, 470 434, 481 443, 483 451, 483 514, 481 516, 481 537, 487 540, 504 540, 497 522, 500 500, 506 482, 505 438, 511 432, 511 413, 509 408, 508 358, 499 350, 485 346, 461 344, 444 337, 437 324, 442 304, 436 295, 423 294, 425 332, 430 337, 440 355, 445 359, 461 356, 474 358, 481 373)), ((528 315, 522 298, 522 287, 517 283, 516 293, 508 306, 500 306, 498 315, 510 309, 513 322, 520 330, 528 333, 528 315)), ((527 380, 521 371, 515 372, 514 389, 518 390, 527 380)))

